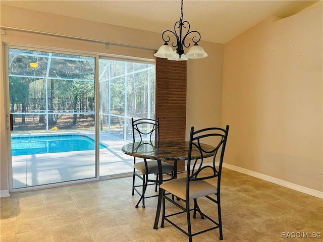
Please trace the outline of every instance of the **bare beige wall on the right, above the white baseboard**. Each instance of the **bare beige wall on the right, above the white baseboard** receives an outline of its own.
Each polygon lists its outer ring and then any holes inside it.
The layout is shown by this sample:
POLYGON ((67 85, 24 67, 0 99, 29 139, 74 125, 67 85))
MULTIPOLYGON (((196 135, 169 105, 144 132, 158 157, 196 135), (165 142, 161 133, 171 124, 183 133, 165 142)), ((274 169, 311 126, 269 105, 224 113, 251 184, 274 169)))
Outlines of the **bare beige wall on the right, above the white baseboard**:
POLYGON ((323 191, 322 2, 225 44, 226 162, 323 191))

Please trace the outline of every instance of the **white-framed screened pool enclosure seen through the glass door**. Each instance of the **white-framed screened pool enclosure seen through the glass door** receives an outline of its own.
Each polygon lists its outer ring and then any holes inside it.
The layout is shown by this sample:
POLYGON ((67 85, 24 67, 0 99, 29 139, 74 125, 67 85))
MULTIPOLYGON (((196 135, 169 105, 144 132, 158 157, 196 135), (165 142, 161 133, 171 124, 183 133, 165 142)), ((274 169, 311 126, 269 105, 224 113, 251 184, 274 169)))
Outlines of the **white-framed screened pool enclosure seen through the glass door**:
MULTIPOLYGON (((9 48, 14 132, 94 128, 95 57, 9 48)), ((131 117, 154 117, 153 64, 99 58, 99 126, 128 139, 131 117)))

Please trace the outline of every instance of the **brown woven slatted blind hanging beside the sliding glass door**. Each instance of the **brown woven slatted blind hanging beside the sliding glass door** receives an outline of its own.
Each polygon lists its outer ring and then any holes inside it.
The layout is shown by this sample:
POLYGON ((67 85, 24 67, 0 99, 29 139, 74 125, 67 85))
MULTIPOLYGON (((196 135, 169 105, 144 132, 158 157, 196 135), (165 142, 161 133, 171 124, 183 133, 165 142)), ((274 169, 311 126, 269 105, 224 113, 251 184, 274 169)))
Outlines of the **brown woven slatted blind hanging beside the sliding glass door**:
MULTIPOLYGON (((160 140, 185 140, 186 132, 186 62, 156 58, 156 117, 160 140)), ((178 171, 185 162, 178 162, 178 171)))

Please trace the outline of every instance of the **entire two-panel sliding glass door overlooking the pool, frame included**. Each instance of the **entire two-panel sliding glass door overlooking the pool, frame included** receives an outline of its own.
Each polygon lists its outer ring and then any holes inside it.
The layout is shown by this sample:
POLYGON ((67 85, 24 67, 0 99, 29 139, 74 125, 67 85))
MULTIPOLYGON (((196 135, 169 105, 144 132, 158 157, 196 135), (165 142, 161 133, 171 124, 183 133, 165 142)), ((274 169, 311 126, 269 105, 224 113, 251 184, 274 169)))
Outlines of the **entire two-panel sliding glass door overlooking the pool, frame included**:
POLYGON ((11 192, 133 171, 121 147, 132 142, 132 117, 155 117, 153 60, 5 51, 11 192))

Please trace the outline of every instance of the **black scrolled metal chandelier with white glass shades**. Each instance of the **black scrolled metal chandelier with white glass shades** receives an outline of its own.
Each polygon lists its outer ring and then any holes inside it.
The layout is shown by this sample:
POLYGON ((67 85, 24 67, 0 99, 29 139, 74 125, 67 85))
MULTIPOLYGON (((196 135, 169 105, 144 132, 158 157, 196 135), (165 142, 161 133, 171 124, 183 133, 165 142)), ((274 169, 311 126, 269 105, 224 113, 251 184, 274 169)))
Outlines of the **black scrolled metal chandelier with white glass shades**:
POLYGON ((199 59, 207 56, 204 49, 197 44, 201 39, 201 34, 195 30, 190 31, 190 23, 188 21, 183 21, 183 0, 181 2, 181 18, 175 23, 174 31, 165 30, 161 35, 161 38, 163 38, 165 43, 164 45, 161 45, 158 51, 154 54, 156 57, 167 58, 170 61, 187 61, 188 59, 199 59), (182 36, 183 28, 187 28, 187 32, 184 36, 182 36), (175 50, 168 45, 168 42, 171 40, 170 35, 174 35, 176 38, 176 41, 172 42, 172 46, 176 48, 175 50), (188 35, 192 36, 194 45, 185 54, 184 47, 190 47, 190 43, 185 42, 188 35))

